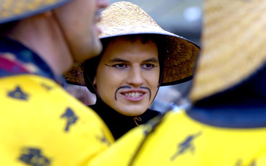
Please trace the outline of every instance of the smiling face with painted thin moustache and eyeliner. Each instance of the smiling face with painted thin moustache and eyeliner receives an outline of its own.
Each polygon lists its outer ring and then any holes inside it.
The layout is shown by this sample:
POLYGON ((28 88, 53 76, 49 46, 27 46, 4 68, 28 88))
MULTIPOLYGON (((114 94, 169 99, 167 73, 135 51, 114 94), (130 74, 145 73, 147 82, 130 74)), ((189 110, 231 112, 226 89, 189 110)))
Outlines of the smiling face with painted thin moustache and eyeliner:
POLYGON ((144 113, 156 95, 160 75, 158 50, 146 44, 116 38, 108 44, 93 84, 102 100, 127 116, 144 113))

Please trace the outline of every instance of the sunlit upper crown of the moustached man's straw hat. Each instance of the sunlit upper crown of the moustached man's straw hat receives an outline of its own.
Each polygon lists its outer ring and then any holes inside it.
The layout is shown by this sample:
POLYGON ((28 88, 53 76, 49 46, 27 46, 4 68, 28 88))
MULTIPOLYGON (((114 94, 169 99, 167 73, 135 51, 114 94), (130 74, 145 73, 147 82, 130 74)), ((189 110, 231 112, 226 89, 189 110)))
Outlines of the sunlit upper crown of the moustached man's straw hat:
POLYGON ((140 32, 161 32, 163 30, 145 11, 130 2, 112 4, 101 13, 102 20, 97 25, 103 29, 100 37, 140 32))

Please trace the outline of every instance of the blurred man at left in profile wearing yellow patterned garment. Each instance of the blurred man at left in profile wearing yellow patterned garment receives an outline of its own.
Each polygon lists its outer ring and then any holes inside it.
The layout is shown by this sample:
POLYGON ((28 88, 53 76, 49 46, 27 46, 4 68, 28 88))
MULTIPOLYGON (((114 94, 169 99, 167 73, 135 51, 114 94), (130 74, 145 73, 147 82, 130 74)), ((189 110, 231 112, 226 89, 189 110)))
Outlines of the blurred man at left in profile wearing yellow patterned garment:
POLYGON ((0 165, 84 165, 113 137, 59 75, 101 52, 95 24, 108 1, 0 5, 0 165))

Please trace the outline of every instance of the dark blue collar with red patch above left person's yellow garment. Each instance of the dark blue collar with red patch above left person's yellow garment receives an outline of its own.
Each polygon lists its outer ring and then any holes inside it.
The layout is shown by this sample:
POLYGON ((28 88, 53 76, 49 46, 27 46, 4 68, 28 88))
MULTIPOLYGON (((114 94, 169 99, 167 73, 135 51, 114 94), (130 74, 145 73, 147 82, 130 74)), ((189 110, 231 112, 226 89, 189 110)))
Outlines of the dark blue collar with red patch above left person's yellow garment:
POLYGON ((61 85, 64 82, 36 53, 8 37, 0 36, 0 58, 0 77, 27 73, 52 79, 61 85))

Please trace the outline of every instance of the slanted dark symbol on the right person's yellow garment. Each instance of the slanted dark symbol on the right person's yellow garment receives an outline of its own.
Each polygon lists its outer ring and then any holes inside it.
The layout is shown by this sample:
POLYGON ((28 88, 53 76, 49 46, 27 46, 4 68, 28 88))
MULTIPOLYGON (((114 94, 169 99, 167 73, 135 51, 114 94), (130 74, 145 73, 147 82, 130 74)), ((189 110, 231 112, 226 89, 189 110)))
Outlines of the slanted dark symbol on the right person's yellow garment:
POLYGON ((193 140, 196 139, 198 136, 201 135, 201 132, 198 132, 194 135, 189 135, 186 137, 184 141, 178 144, 177 146, 177 152, 172 155, 170 158, 171 161, 175 160, 178 155, 185 153, 187 150, 190 150, 191 153, 194 153, 195 151, 195 146, 193 145, 193 140))

